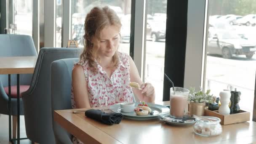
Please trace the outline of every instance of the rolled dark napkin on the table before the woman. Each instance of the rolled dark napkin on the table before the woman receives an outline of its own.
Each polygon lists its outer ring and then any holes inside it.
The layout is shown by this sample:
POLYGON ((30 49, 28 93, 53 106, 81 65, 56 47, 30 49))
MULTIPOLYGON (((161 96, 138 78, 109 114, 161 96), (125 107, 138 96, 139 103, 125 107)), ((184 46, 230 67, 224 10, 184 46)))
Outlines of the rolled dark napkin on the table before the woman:
POLYGON ((120 113, 105 113, 99 109, 89 109, 85 111, 85 116, 107 125, 119 124, 123 120, 123 115, 120 113))

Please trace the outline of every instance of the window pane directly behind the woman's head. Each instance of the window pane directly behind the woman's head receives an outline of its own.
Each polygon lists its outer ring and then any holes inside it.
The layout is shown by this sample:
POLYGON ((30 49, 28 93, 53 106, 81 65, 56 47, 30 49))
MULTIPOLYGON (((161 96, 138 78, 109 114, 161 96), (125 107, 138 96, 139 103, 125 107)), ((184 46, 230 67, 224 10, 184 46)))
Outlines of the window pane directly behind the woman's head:
POLYGON ((86 14, 95 6, 108 5, 119 16, 121 29, 121 44, 119 51, 129 54, 131 27, 131 0, 72 0, 71 7, 71 37, 83 47, 84 21, 86 14))

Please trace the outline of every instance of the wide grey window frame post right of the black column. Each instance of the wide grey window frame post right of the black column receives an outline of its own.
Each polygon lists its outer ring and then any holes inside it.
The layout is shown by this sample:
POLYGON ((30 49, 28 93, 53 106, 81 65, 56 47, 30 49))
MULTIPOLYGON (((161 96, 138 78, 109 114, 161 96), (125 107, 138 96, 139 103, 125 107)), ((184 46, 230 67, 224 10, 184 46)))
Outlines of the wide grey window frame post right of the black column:
POLYGON ((184 87, 205 90, 208 0, 189 1, 184 87))

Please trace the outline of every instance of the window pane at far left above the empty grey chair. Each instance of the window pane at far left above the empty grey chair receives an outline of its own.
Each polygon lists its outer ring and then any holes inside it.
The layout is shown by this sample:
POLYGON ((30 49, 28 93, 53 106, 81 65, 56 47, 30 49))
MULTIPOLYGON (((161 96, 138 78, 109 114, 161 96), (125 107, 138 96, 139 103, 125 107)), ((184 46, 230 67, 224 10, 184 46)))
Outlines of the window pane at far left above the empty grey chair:
POLYGON ((13 0, 14 24, 11 33, 32 36, 32 0, 13 0))

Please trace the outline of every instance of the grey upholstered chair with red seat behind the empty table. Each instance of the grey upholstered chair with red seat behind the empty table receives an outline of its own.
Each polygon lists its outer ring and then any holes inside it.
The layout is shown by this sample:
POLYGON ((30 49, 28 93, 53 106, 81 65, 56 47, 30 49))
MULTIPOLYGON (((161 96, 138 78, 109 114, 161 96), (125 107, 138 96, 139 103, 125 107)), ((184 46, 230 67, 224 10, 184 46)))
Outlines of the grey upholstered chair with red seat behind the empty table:
MULTIPOLYGON (((0 57, 9 56, 37 56, 34 42, 29 35, 0 35, 0 57)), ((20 92, 27 91, 32 74, 20 75, 20 92)), ((16 91, 16 75, 11 75, 11 91, 16 91)), ((8 115, 8 75, 0 75, 0 114, 8 115)), ((13 118, 13 136, 16 135, 17 100, 16 94, 11 92, 11 114, 13 118)), ((24 115, 23 101, 20 99, 20 115, 24 115)), ((6 130, 8 131, 8 130, 6 130)))

